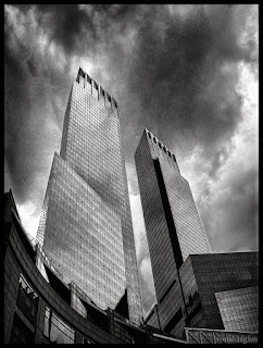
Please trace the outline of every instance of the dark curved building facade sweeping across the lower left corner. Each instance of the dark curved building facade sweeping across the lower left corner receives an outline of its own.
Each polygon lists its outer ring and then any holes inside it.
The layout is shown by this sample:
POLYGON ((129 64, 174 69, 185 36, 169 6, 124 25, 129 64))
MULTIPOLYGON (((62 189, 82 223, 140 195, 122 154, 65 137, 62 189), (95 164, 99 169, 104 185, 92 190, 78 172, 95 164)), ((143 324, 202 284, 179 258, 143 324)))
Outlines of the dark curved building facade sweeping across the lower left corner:
POLYGON ((160 344, 178 341, 101 310, 50 263, 23 228, 12 192, 4 195, 4 344, 160 344))

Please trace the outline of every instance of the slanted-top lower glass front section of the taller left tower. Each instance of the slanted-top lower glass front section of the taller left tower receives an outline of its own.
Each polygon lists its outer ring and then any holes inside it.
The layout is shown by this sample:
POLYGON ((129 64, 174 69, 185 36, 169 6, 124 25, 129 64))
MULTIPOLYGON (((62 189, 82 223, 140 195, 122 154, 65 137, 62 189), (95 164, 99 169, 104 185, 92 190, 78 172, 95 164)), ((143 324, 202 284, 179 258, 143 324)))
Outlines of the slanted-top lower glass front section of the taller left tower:
POLYGON ((48 196, 43 250, 50 262, 98 307, 114 309, 126 287, 120 216, 58 154, 48 196))

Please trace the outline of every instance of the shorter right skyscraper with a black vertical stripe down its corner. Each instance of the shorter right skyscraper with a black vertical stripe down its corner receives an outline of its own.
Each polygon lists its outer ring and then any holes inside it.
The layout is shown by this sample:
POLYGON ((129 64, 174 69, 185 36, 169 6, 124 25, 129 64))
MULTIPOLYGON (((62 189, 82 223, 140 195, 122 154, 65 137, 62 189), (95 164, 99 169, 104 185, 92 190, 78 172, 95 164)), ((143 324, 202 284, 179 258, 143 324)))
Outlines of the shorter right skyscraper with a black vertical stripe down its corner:
POLYGON ((181 316, 185 298, 180 265, 189 254, 210 253, 210 248, 174 153, 148 129, 136 150, 135 163, 158 301, 156 315, 149 324, 164 330, 176 322, 176 315, 181 316))

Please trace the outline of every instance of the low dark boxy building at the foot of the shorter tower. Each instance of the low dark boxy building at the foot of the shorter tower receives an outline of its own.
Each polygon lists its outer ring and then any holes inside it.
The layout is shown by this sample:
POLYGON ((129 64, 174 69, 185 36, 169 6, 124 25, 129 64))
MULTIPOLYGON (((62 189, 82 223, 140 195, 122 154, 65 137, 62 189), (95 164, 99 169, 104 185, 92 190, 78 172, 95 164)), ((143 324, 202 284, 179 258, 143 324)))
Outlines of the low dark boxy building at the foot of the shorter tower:
POLYGON ((168 294, 146 319, 148 324, 160 327, 160 318, 162 328, 177 337, 184 327, 258 332, 259 252, 191 254, 177 279, 180 296, 168 296, 176 284, 167 287, 168 294))

